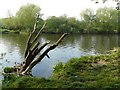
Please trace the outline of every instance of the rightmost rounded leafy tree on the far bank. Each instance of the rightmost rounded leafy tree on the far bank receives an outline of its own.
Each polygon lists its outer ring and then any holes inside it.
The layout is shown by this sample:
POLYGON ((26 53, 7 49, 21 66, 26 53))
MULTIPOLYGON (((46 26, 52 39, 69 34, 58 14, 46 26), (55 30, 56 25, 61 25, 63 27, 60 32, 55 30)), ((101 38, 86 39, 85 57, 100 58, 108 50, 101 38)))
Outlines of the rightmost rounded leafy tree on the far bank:
POLYGON ((99 8, 96 16, 98 17, 97 27, 99 27, 100 31, 112 32, 117 30, 117 10, 112 8, 99 8))

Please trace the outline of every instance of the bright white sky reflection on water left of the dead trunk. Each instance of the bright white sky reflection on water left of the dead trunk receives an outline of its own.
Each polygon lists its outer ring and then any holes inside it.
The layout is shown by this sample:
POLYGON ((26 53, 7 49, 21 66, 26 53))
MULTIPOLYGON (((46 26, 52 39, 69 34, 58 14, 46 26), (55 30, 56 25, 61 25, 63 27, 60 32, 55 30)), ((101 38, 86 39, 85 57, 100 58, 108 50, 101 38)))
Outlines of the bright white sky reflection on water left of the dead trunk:
MULTIPOLYGON (((22 56, 18 46, 13 46, 12 43, 1 40, 0 43, 0 65, 13 66, 15 62, 21 62, 22 56)), ((0 67, 0 70, 2 70, 0 67)))

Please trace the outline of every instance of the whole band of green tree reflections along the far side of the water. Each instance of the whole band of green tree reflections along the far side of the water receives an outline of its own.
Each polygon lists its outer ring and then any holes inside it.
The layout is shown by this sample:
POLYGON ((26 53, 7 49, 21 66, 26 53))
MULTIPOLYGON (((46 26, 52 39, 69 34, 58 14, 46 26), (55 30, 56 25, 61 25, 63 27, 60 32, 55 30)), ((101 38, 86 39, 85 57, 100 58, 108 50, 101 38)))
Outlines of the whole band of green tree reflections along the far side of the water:
MULTIPOLYGON (((61 34, 42 34, 38 40, 40 43, 43 43, 46 40, 50 40, 51 43, 54 43, 56 42, 55 40, 60 37, 60 35, 61 34)), ((17 47, 22 55, 25 50, 27 37, 27 34, 3 34, 4 42, 9 44, 9 47, 17 47)), ((116 46, 118 46, 117 35, 70 34, 58 47, 79 48, 80 50, 82 49, 86 52, 94 49, 96 53, 104 53, 105 51, 116 46)), ((13 48, 10 51, 14 50, 13 48)))

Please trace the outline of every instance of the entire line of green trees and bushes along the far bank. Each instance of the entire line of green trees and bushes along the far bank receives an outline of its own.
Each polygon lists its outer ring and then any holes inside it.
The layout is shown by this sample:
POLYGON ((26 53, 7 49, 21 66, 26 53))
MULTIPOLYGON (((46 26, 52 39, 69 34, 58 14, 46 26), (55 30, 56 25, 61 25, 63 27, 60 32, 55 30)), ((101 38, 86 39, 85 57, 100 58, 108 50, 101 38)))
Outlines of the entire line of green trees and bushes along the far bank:
POLYGON ((44 33, 119 33, 119 10, 111 8, 99 8, 96 12, 85 9, 80 13, 81 19, 50 16, 42 19, 41 8, 34 4, 22 6, 15 16, 9 14, 8 18, 0 19, 0 28, 29 32, 33 30, 35 15, 39 13, 38 29, 47 22, 44 33))

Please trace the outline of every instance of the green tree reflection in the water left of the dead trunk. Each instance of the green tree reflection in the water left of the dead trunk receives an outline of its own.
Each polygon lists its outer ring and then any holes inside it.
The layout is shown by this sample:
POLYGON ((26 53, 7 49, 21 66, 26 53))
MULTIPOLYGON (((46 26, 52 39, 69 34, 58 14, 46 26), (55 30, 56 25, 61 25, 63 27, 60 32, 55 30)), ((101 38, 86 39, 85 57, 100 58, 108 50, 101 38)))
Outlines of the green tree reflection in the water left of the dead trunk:
POLYGON ((21 34, 3 34, 2 40, 8 47, 8 51, 12 52, 17 48, 21 54, 24 53, 25 43, 28 35, 21 34))

